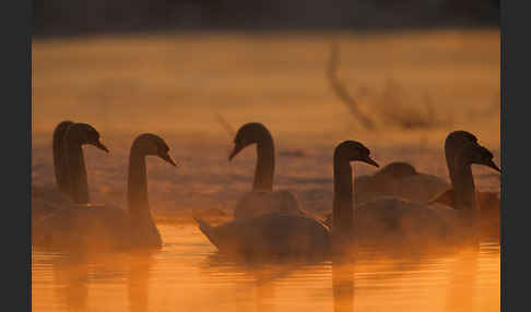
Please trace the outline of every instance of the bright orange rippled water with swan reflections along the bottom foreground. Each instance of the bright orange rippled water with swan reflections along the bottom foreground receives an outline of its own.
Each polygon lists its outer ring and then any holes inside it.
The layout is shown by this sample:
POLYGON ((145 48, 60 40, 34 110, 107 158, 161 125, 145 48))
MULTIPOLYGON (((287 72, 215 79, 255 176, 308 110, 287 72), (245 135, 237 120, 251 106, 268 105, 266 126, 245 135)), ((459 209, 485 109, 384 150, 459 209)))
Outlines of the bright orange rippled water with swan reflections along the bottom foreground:
POLYGON ((161 226, 146 253, 34 250, 34 311, 498 311, 499 245, 352 260, 249 263, 194 226, 161 226))

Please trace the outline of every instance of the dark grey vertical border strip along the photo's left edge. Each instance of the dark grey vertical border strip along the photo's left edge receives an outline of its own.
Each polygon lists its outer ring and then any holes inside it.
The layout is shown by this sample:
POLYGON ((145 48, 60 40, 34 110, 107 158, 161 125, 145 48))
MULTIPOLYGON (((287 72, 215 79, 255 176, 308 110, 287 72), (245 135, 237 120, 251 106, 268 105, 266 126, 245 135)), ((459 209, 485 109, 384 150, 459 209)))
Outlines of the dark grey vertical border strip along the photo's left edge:
POLYGON ((33 1, 2 1, 2 308, 31 311, 33 1))

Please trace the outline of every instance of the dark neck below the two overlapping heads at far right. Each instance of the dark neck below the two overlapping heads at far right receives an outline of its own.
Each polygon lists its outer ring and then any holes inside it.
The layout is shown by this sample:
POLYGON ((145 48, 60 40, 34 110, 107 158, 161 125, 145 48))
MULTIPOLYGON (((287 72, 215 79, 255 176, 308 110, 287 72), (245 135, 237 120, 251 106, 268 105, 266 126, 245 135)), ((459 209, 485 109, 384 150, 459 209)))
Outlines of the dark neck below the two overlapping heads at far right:
POLYGON ((476 208, 475 185, 471 165, 461 155, 456 155, 448 164, 453 188, 455 208, 474 212, 476 208))

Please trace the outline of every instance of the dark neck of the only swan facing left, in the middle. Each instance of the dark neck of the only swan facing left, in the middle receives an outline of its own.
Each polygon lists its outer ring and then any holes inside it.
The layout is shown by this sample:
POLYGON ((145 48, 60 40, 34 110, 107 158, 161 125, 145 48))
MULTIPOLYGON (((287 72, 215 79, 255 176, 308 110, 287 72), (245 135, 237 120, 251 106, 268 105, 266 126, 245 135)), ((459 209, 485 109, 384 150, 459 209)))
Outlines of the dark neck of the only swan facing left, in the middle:
POLYGON ((272 191, 274 172, 273 139, 266 133, 257 141, 257 166, 255 169, 253 191, 272 191))

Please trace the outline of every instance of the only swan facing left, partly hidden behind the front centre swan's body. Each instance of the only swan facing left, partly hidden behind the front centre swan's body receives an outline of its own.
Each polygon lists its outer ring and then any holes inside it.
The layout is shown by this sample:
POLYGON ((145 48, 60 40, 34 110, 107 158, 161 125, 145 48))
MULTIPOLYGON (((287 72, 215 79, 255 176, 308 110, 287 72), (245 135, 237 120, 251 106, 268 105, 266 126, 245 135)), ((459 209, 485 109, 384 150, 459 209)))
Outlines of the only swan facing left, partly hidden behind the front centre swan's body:
POLYGON ((259 122, 249 122, 239 128, 234 139, 231 161, 241 149, 257 145, 257 165, 252 191, 244 194, 236 204, 234 218, 249 218, 274 211, 305 215, 296 196, 287 191, 273 191, 274 144, 271 133, 259 122))

